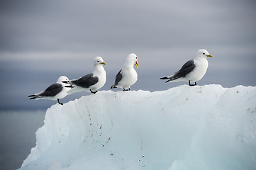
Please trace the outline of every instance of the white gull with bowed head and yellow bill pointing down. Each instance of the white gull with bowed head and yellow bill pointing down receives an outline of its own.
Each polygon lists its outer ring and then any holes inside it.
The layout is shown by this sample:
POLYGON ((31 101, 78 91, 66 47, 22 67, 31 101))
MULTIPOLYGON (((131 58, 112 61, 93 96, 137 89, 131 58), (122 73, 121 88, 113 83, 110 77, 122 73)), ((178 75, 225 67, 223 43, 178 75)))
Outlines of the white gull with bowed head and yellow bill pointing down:
POLYGON ((123 91, 130 90, 130 86, 135 84, 138 79, 137 72, 133 68, 133 64, 138 67, 138 57, 135 54, 128 55, 126 62, 123 64, 123 69, 121 69, 118 74, 116 74, 116 81, 111 89, 113 88, 123 88, 123 91), (127 88, 127 89, 126 89, 127 88))

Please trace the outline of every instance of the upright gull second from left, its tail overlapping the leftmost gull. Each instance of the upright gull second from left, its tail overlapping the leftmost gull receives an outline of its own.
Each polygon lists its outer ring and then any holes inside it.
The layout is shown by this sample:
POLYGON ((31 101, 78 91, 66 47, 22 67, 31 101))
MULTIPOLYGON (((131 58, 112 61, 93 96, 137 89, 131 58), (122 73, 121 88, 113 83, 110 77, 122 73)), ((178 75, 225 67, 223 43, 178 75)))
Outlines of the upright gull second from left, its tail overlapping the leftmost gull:
POLYGON ((62 81, 63 83, 71 84, 73 87, 67 93, 73 94, 78 91, 91 91, 91 94, 96 94, 97 90, 101 89, 106 83, 106 72, 103 65, 106 65, 104 60, 101 57, 95 57, 94 72, 79 79, 62 81))

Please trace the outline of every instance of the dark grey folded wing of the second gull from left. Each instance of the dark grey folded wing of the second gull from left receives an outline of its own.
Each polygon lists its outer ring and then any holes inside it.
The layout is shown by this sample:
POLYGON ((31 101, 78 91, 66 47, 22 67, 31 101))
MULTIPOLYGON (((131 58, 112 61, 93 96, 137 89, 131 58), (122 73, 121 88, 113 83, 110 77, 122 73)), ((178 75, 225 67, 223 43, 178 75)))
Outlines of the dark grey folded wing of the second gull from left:
POLYGON ((82 86, 84 88, 89 88, 89 86, 92 86, 94 84, 96 84, 99 79, 98 77, 93 77, 94 74, 87 74, 84 77, 81 77, 80 79, 77 80, 72 80, 72 84, 76 85, 76 86, 82 86))

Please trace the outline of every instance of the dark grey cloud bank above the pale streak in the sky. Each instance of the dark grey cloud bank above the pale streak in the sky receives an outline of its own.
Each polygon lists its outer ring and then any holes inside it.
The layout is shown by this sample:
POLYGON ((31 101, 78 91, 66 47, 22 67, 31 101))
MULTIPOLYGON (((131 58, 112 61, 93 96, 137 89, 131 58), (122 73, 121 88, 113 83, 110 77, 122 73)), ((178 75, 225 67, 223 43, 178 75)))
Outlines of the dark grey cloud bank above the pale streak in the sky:
POLYGON ((252 34, 255 4, 240 1, 19 3, 9 1, 1 12, 5 23, 2 50, 91 52, 191 44, 250 45, 248 41, 255 42, 256 36, 252 34))

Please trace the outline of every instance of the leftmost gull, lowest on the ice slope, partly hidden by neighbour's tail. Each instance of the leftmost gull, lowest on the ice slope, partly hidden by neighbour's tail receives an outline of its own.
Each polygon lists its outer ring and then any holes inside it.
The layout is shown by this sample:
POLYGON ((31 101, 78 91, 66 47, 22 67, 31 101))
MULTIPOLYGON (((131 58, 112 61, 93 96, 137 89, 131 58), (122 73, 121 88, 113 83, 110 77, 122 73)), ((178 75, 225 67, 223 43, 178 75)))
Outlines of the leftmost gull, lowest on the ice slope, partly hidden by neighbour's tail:
POLYGON ((67 96, 67 91, 71 89, 71 86, 66 86, 66 84, 62 83, 62 81, 68 81, 68 78, 65 76, 59 77, 57 79, 57 82, 55 84, 52 84, 48 86, 45 91, 41 91, 38 94, 33 94, 28 97, 31 99, 49 99, 49 100, 56 100, 57 103, 60 105, 63 105, 63 103, 60 103, 61 98, 65 98, 67 96))

